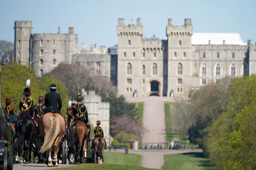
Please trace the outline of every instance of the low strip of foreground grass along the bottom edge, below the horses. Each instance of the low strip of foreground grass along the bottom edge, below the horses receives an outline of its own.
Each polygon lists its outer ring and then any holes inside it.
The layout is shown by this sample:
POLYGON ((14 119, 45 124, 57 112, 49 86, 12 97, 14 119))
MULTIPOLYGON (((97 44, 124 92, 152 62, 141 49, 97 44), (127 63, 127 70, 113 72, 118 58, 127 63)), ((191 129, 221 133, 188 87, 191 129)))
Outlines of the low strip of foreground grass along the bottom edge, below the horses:
MULTIPOLYGON (((105 161, 104 161, 105 162, 105 161)), ((55 168, 54 168, 55 169, 55 168)), ((143 167, 126 166, 126 165, 113 165, 113 164, 80 164, 68 168, 58 168, 59 170, 157 170, 143 167)))

